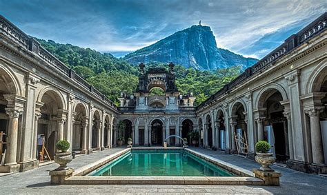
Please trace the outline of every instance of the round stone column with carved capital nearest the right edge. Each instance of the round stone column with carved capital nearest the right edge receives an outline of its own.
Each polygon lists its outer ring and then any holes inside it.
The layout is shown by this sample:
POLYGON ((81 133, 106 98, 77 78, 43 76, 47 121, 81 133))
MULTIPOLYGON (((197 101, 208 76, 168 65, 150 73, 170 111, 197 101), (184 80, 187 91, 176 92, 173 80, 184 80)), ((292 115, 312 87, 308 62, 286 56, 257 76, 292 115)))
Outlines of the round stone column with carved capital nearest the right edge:
POLYGON ((319 114, 322 110, 322 107, 312 107, 308 110, 305 110, 305 112, 310 117, 311 146, 313 150, 313 163, 315 164, 324 164, 324 150, 322 147, 319 119, 319 114))

